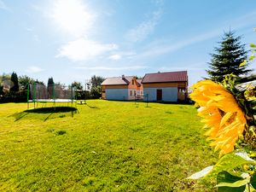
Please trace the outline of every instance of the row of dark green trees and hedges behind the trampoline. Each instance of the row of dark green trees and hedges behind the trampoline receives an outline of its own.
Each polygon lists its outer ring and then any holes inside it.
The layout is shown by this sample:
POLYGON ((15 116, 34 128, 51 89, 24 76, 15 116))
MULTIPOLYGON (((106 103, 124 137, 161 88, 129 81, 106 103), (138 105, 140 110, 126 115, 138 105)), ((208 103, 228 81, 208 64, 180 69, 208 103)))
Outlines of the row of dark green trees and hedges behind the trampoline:
MULTIPOLYGON (((51 84, 61 85, 63 89, 76 87, 77 98, 81 99, 98 99, 102 96, 101 84, 104 78, 100 76, 92 76, 89 80, 90 89, 85 90, 85 84, 78 81, 73 81, 72 84, 65 85, 61 82, 55 82, 52 77, 48 79, 47 87, 51 84)), ((43 81, 32 79, 26 75, 19 76, 13 72, 11 74, 0 75, 0 102, 26 102, 27 99, 27 84, 44 84, 43 81)), ((45 84, 44 84, 45 85, 45 84)))

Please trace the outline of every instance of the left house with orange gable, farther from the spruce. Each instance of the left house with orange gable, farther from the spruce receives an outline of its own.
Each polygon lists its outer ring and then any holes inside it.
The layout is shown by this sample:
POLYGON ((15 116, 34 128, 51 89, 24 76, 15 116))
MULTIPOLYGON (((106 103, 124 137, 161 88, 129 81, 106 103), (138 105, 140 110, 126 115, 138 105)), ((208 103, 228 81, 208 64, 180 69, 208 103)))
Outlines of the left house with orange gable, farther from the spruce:
POLYGON ((102 99, 107 100, 134 100, 143 96, 141 79, 135 76, 114 77, 102 82, 102 99))

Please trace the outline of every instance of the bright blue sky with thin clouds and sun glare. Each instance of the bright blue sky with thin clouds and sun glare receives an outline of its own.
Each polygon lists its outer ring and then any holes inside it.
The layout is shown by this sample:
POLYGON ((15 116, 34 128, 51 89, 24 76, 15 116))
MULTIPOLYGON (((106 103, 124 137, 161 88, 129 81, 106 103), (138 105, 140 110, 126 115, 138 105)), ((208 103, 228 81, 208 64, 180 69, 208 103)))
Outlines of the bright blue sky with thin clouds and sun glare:
POLYGON ((249 49, 254 27, 255 0, 0 0, 0 74, 84 84, 187 70, 191 85, 224 32, 249 49))

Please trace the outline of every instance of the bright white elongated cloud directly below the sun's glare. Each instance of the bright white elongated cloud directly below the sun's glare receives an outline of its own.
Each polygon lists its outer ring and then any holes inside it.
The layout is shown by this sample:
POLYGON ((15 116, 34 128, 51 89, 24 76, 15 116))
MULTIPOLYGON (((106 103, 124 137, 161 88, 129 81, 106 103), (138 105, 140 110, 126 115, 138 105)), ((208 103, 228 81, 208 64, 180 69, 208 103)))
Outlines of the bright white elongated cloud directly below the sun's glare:
POLYGON ((118 49, 117 44, 101 44, 85 38, 79 38, 61 46, 56 57, 67 57, 72 61, 85 61, 115 49, 118 49))

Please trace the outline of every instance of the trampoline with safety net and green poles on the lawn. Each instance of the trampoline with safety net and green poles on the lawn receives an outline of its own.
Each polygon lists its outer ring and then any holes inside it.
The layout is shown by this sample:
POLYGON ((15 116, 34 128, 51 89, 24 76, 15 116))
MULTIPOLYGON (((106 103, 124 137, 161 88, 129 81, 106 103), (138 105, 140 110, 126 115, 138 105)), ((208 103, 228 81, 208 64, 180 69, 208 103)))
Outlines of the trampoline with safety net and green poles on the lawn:
MULTIPOLYGON (((60 84, 49 84, 46 87, 44 84, 27 84, 27 109, 29 109, 29 103, 53 103, 55 108, 56 103, 71 103, 71 107, 77 108, 77 95, 76 87, 71 89, 65 89, 60 84)), ((38 106, 38 105, 37 105, 38 106)))

